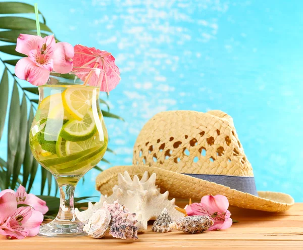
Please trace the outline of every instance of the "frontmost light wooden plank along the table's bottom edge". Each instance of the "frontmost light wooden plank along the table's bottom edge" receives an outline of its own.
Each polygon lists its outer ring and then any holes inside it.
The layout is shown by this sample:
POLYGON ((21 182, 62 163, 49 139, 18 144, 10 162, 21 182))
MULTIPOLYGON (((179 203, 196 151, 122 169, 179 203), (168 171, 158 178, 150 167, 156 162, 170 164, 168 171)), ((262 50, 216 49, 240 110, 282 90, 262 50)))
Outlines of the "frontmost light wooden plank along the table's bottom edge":
POLYGON ((226 241, 226 240, 212 240, 212 241, 194 241, 194 240, 174 240, 174 241, 159 241, 159 240, 138 240, 135 242, 130 241, 115 241, 111 239, 93 240, 48 240, 39 241, 34 244, 28 241, 23 244, 1 245, 2 250, 41 250, 41 249, 302 249, 303 240, 299 241, 272 241, 272 240, 239 240, 239 241, 226 241))

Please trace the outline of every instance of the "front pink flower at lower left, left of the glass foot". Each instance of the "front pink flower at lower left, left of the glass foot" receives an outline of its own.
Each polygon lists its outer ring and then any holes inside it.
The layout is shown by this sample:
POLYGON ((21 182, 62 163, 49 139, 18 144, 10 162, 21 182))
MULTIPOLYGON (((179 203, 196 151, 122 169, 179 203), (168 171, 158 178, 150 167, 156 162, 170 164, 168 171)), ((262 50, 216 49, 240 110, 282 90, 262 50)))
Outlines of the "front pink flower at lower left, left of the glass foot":
POLYGON ((43 221, 41 212, 31 207, 17 208, 16 197, 6 192, 0 197, 0 234, 9 239, 23 239, 26 236, 35 236, 43 221))

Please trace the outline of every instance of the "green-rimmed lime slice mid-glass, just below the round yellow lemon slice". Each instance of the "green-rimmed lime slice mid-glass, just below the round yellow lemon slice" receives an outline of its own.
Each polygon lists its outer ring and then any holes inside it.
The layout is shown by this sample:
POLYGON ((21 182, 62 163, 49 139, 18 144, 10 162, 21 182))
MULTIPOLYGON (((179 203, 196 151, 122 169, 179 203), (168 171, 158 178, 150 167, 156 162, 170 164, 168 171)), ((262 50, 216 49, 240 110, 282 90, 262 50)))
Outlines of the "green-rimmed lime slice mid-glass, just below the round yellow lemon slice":
POLYGON ((62 128, 60 136, 69 141, 87 140, 97 131, 92 111, 88 110, 81 121, 68 121, 62 128))

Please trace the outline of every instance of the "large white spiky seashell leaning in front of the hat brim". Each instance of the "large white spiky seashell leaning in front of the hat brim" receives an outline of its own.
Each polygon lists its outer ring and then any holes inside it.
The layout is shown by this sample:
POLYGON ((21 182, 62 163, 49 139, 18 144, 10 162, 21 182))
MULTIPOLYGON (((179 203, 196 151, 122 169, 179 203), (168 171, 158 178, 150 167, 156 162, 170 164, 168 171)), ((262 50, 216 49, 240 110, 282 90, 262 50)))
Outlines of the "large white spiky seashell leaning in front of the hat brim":
POLYGON ((160 188, 156 185, 156 174, 149 178, 146 171, 141 180, 134 176, 133 180, 127 171, 124 175, 118 174, 118 185, 113 187, 113 194, 110 196, 101 195, 100 201, 95 205, 88 204, 88 209, 79 212, 76 209, 76 216, 81 222, 86 222, 93 211, 102 208, 103 203, 113 203, 117 201, 123 204, 131 213, 135 213, 138 221, 136 226, 139 231, 147 229, 147 221, 156 220, 164 208, 167 209, 172 220, 175 221, 184 215, 175 208, 175 198, 168 199, 169 192, 160 193, 160 188))

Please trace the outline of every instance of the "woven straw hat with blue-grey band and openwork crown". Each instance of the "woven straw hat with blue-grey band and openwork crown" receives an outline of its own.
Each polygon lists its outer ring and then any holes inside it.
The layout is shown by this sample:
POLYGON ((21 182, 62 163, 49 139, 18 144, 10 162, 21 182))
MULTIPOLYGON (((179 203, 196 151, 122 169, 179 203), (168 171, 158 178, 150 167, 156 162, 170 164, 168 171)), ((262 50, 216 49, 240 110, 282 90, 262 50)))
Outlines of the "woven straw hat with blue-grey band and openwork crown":
POLYGON ((270 212, 288 210, 285 193, 256 190, 254 173, 232 118, 222 111, 161 112, 142 128, 134 145, 132 166, 112 167, 96 178, 96 188, 110 195, 118 173, 139 177, 156 173, 156 184, 175 198, 199 200, 225 195, 230 205, 270 212))

